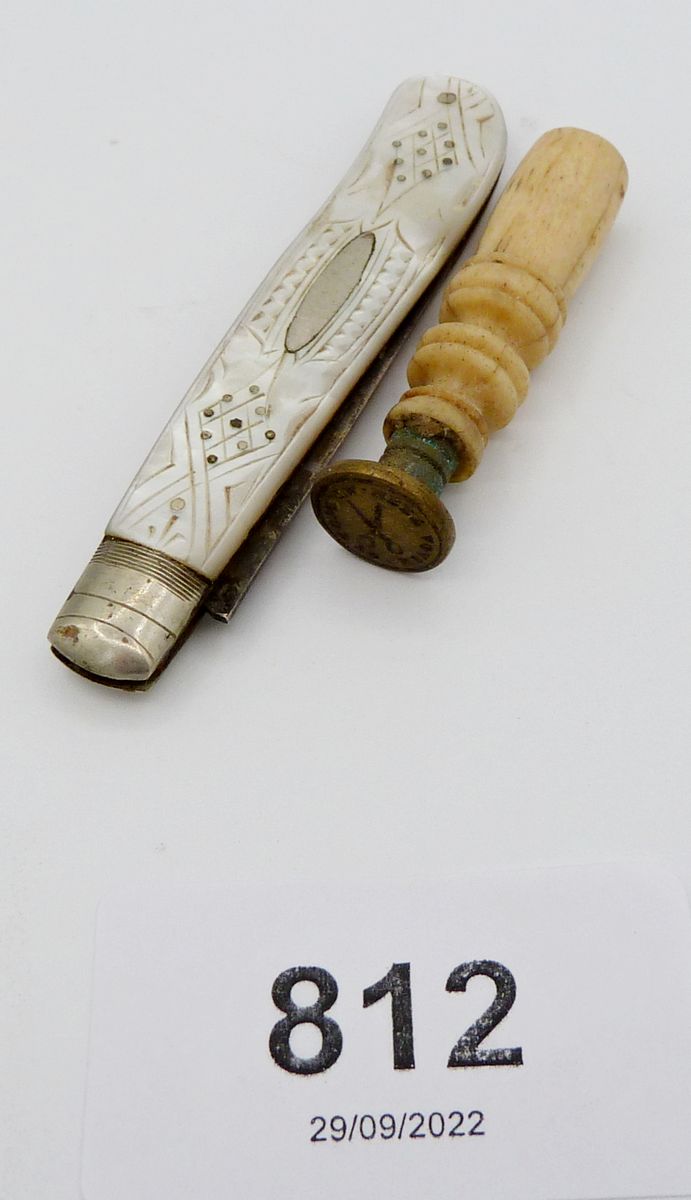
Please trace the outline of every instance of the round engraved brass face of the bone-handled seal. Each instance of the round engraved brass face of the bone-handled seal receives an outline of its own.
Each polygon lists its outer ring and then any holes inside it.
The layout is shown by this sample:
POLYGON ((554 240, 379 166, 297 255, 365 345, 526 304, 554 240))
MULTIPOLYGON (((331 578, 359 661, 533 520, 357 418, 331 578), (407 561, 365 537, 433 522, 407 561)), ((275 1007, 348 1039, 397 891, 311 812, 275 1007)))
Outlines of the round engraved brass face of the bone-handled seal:
POLYGON ((372 462, 340 462, 317 480, 312 506, 346 550, 393 571, 428 571, 451 550, 453 522, 425 484, 372 462))

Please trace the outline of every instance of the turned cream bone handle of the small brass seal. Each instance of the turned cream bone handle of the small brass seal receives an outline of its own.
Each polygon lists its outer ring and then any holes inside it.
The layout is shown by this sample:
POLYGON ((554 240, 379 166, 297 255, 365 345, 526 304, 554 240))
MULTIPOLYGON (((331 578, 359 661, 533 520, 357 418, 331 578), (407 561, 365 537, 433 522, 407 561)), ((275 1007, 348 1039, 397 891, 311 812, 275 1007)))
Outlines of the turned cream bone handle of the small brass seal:
POLYGON ((553 348, 626 181, 621 155, 595 133, 560 128, 536 142, 477 253, 447 284, 440 324, 410 361, 410 390, 386 418, 387 439, 402 426, 446 437, 458 455, 451 478, 473 474, 488 433, 511 420, 529 371, 553 348))

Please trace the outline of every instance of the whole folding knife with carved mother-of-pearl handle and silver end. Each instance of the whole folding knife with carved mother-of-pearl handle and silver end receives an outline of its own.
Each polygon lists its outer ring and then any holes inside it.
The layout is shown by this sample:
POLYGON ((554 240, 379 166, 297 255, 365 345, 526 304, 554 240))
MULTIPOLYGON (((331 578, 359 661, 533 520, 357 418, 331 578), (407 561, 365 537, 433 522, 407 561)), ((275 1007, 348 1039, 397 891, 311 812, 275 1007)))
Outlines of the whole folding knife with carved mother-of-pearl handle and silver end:
POLYGON ((493 97, 409 79, 174 412, 49 631, 146 686, 206 610, 228 620, 367 402, 504 161, 493 97))

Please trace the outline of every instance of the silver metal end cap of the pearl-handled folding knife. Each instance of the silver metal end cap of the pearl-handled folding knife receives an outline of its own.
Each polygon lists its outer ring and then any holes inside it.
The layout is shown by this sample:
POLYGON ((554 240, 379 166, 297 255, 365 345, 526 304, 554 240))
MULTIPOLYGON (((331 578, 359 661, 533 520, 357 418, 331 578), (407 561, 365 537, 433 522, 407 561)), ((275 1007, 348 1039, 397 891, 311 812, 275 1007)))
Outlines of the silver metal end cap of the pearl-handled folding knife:
POLYGON ((48 632, 65 661, 112 684, 142 684, 170 656, 210 581, 168 554, 104 538, 48 632))

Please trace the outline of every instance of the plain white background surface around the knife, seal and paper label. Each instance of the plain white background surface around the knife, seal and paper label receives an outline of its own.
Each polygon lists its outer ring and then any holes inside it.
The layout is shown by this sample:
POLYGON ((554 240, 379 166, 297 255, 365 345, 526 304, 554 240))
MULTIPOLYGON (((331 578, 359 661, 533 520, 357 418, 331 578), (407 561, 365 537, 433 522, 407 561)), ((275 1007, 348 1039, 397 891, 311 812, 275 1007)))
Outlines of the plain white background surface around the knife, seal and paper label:
MULTIPOLYGON (((7 0, 2 1200, 77 1200, 94 916, 130 882, 653 857, 691 887, 685 2, 7 0), (44 632, 144 452, 393 86, 494 92, 631 184, 417 578, 306 509, 154 690, 44 632)), ((506 174, 504 179, 506 179, 506 174)), ((434 319, 434 306, 428 322, 434 319)), ((348 443, 378 456, 391 372, 348 443)))

